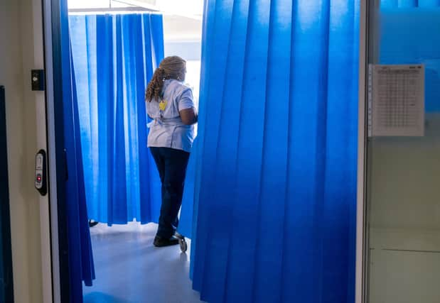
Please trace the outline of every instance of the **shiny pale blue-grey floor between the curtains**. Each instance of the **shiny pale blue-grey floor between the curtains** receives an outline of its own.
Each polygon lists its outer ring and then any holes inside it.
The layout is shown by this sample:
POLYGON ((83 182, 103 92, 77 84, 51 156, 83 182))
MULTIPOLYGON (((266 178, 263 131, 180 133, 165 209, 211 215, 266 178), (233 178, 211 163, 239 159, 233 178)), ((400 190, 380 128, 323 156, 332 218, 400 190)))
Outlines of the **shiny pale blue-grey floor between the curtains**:
MULTIPOLYGON (((83 287, 85 303, 203 302, 192 290, 189 248, 155 248, 156 224, 90 228, 96 280, 83 287)), ((188 243, 189 244, 189 243, 188 243)))

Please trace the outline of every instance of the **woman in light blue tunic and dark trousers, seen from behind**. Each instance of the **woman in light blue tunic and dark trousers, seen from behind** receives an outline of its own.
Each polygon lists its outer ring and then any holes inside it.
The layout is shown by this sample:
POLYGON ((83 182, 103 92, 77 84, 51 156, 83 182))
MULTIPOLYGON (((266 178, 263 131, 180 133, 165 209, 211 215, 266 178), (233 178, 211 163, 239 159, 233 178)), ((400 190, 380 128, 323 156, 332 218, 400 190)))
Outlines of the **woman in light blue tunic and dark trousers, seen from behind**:
POLYGON ((176 228, 182 204, 186 166, 194 140, 197 113, 191 89, 183 84, 186 61, 178 56, 166 57, 154 72, 146 88, 149 123, 148 147, 156 162, 162 183, 159 228, 154 246, 178 244, 176 228))

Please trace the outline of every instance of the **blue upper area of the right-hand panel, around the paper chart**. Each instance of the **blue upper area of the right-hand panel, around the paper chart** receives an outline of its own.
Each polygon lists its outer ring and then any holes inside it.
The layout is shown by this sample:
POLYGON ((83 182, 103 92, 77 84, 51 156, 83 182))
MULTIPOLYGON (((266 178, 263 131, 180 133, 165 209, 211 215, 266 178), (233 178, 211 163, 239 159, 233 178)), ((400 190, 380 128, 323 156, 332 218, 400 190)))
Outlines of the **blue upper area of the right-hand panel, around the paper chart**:
POLYGON ((425 65, 425 109, 440 111, 440 7, 382 9, 380 63, 425 65))

